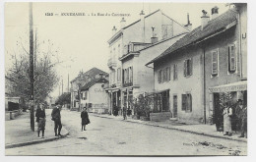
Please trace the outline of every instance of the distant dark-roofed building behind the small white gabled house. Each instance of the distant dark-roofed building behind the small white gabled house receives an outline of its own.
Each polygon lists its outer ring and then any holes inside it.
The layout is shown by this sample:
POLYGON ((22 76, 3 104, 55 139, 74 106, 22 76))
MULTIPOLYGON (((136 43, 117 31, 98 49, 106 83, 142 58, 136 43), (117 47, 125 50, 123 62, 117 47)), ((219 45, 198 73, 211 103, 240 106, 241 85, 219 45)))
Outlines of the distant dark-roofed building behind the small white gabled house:
POLYGON ((97 69, 92 68, 86 73, 81 72, 77 78, 70 81, 71 83, 71 109, 78 110, 81 107, 81 97, 80 92, 81 88, 88 82, 100 79, 100 78, 108 78, 108 74, 97 69))

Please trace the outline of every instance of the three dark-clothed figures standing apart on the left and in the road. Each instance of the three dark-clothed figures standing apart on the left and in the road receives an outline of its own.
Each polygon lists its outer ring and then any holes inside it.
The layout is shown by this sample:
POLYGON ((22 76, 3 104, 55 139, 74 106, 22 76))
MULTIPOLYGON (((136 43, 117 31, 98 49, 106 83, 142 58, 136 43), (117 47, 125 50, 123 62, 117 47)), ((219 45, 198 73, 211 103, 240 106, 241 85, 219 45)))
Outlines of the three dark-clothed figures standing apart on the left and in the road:
MULTIPOLYGON (((51 120, 54 121, 54 133, 55 136, 61 136, 61 106, 57 105, 52 109, 51 112, 51 120)), ((46 122, 46 115, 43 103, 39 103, 37 105, 37 109, 35 112, 36 122, 37 122, 37 136, 40 138, 44 138, 44 130, 45 130, 45 122, 46 122)), ((81 112, 81 119, 82 119, 82 131, 86 131, 86 125, 90 124, 89 115, 87 112, 87 108, 84 107, 83 111, 81 112)))

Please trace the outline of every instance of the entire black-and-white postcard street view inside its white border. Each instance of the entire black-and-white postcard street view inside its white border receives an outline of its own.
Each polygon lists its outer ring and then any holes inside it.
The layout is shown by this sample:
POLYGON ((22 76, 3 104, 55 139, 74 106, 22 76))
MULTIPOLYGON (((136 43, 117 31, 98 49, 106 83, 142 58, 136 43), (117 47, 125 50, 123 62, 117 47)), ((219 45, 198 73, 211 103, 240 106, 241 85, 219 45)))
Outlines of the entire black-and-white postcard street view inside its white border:
POLYGON ((4 14, 6 156, 248 155, 247 3, 4 14))

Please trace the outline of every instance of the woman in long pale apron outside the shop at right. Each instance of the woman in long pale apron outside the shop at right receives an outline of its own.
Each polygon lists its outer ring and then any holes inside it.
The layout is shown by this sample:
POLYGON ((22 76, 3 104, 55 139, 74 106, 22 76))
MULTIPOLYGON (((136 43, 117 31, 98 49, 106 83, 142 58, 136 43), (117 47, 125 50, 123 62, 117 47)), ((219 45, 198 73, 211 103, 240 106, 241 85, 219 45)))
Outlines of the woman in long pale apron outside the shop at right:
POLYGON ((229 106, 225 106, 224 108, 224 135, 231 136, 231 115, 232 115, 232 108, 229 106))

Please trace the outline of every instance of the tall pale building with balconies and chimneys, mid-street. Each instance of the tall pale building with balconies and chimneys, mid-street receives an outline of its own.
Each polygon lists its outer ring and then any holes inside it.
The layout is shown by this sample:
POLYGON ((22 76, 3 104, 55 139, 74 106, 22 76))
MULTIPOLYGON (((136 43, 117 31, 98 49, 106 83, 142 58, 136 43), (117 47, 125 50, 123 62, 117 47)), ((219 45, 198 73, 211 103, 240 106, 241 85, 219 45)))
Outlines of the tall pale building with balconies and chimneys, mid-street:
POLYGON ((178 24, 160 10, 147 16, 142 11, 140 17, 126 27, 122 19, 121 29, 115 32, 113 27, 113 35, 108 40, 109 87, 106 90, 111 109, 129 107, 129 100, 154 90, 154 71, 144 65, 184 36, 191 26, 178 24))

